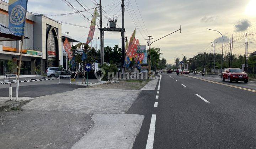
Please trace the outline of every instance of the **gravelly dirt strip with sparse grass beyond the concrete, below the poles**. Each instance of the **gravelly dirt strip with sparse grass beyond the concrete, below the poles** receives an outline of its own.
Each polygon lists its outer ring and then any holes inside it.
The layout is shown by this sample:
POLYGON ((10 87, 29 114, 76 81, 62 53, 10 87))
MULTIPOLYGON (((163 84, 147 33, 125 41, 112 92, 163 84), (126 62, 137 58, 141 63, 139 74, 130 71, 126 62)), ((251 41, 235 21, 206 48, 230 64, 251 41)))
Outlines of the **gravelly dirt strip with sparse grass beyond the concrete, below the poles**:
POLYGON ((89 88, 140 90, 149 81, 150 81, 150 79, 145 79, 145 80, 127 80, 127 81, 119 81, 118 83, 106 83, 106 84, 90 86, 89 88))

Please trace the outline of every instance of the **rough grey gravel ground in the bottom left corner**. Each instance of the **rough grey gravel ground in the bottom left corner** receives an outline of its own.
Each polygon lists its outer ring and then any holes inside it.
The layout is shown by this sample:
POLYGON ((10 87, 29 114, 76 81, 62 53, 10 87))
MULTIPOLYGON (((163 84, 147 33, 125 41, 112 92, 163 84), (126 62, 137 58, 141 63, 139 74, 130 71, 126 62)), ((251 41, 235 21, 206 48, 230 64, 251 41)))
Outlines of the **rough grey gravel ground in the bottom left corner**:
POLYGON ((92 126, 89 114, 36 110, 0 112, 0 148, 68 149, 92 126))

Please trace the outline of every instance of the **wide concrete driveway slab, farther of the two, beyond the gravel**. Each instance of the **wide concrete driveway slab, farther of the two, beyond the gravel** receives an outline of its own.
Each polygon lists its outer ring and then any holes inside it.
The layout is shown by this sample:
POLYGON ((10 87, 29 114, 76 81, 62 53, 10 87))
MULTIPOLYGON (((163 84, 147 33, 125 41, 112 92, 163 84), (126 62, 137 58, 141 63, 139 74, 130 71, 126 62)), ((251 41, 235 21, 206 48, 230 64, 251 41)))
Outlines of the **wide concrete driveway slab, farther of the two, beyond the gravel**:
POLYGON ((85 114, 125 113, 139 93, 140 90, 79 88, 34 99, 22 109, 85 114))

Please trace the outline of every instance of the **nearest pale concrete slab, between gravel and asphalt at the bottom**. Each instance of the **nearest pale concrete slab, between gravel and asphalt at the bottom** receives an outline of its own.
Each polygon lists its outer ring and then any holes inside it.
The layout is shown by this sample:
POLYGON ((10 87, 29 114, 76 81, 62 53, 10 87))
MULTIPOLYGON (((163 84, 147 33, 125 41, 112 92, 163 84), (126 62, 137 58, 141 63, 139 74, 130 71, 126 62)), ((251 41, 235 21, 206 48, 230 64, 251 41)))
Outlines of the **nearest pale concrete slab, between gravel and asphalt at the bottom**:
POLYGON ((94 127, 71 149, 131 149, 144 116, 137 114, 96 114, 94 127))

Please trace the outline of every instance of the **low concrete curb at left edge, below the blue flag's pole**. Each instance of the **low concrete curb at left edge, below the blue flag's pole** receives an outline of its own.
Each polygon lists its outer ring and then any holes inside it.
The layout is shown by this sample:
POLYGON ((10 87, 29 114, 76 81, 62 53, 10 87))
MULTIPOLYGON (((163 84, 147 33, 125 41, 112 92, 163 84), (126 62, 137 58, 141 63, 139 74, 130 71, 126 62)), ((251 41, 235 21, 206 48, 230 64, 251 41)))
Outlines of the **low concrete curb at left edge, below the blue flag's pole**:
POLYGON ((28 100, 18 100, 18 101, 14 101, 14 100, 7 100, 4 101, 5 104, 0 106, 0 112, 1 111, 6 111, 11 109, 12 107, 17 107, 17 106, 22 106, 25 105, 26 103, 30 102, 33 99, 28 99, 28 100))

